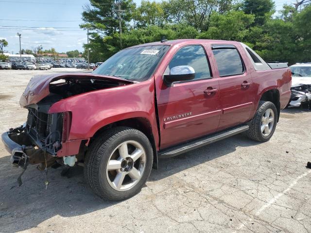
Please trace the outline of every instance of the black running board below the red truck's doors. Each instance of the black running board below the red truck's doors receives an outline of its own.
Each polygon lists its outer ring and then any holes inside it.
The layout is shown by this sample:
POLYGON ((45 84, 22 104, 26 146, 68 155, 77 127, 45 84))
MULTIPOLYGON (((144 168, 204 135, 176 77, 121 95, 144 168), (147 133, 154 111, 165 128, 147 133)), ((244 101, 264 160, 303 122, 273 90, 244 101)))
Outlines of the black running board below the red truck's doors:
POLYGON ((208 135, 206 137, 196 139, 194 141, 186 142, 185 144, 182 144, 181 146, 176 146, 170 149, 160 150, 158 157, 159 158, 171 158, 173 156, 185 153, 190 150, 195 150, 197 148, 206 146, 210 143, 217 142, 219 140, 225 139, 227 137, 230 137, 232 135, 242 133, 246 130, 248 130, 248 125, 242 125, 238 126, 229 130, 225 130, 219 133, 214 133, 211 135, 208 135))

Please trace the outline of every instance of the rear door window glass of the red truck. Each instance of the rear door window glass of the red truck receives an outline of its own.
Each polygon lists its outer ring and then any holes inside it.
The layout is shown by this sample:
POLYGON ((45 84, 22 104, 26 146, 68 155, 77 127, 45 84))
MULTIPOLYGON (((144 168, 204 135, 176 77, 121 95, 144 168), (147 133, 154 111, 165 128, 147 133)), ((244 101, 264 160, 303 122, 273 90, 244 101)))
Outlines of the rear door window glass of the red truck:
POLYGON ((237 49, 213 49, 220 77, 238 75, 244 72, 243 63, 237 49))

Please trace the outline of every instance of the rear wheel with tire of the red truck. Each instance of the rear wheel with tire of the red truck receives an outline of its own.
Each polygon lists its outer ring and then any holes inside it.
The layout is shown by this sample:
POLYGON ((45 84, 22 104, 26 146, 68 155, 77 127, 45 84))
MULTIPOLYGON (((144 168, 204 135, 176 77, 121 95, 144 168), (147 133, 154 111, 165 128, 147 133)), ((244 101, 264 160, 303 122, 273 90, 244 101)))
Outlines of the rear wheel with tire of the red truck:
POLYGON ((256 115, 246 131, 246 135, 255 141, 269 141, 276 130, 276 122, 276 105, 270 101, 259 101, 256 115))

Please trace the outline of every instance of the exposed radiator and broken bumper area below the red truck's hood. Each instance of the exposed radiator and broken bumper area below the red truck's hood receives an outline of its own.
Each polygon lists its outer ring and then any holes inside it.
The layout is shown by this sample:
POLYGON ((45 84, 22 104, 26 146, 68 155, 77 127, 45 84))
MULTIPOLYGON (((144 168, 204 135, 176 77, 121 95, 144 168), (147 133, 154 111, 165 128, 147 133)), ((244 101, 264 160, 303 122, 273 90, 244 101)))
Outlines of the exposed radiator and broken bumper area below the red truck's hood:
POLYGON ((52 166, 57 152, 67 140, 70 130, 69 112, 49 114, 51 103, 41 102, 27 106, 27 121, 20 127, 2 134, 2 141, 11 156, 11 162, 25 166, 26 162, 38 164, 38 169, 52 166))

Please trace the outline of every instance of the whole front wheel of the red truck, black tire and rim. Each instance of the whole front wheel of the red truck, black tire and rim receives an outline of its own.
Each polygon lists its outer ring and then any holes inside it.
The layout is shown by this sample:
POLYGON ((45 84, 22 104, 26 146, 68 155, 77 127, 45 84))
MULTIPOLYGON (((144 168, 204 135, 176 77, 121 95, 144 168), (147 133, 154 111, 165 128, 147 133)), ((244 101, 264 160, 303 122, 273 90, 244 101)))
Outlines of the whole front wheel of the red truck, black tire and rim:
POLYGON ((91 144, 84 174, 101 198, 124 200, 141 190, 152 164, 153 150, 146 135, 133 128, 116 127, 91 144))

